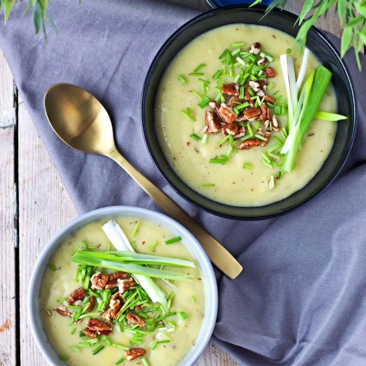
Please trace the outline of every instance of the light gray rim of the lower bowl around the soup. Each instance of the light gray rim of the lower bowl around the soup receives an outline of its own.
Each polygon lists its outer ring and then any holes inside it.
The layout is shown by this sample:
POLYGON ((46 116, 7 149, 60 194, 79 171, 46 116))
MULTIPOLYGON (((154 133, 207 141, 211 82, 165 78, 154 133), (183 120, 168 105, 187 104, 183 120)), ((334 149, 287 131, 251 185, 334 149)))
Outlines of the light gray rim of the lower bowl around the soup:
POLYGON ((214 268, 200 242, 188 229, 167 215, 143 207, 121 205, 108 206, 89 211, 72 220, 48 241, 47 245, 42 249, 33 268, 27 293, 26 303, 28 307, 28 320, 31 326, 33 338, 36 341, 43 357, 50 365, 65 366, 64 361, 58 358, 56 352, 48 343, 40 318, 39 291, 44 270, 47 267, 49 258, 57 250, 60 243, 62 243, 68 236, 72 235, 89 223, 118 217, 136 217, 142 218, 143 220, 150 220, 152 222, 159 222, 163 227, 167 227, 168 230, 176 230, 176 232, 182 234, 185 242, 188 244, 187 247, 191 252, 193 252, 192 249, 194 248, 193 256, 197 260, 202 273, 204 273, 203 276, 205 277, 205 316, 197 337, 197 340, 200 342, 195 342, 195 346, 192 347, 186 356, 177 364, 177 366, 191 366, 196 362, 208 345, 217 320, 219 298, 214 268))

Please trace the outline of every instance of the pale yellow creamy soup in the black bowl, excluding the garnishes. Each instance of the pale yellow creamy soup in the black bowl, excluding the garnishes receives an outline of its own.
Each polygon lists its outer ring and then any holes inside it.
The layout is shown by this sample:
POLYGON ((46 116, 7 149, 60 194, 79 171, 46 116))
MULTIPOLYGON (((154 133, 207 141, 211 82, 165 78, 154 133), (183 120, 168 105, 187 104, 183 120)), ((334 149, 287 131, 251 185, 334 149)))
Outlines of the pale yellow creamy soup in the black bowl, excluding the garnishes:
MULTIPOLYGON (((252 43, 259 42, 262 50, 273 56, 274 59, 269 66, 276 71, 277 76, 268 78, 268 83, 272 83, 273 87, 267 90, 267 94, 270 96, 279 90, 273 97, 282 96, 282 100, 287 102, 280 55, 286 53, 288 49, 294 49, 294 39, 277 29, 264 26, 244 24, 222 26, 193 40, 171 62, 161 80, 156 99, 156 129, 170 166, 193 190, 229 205, 261 206, 290 196, 315 176, 330 153, 337 125, 314 119, 297 154, 294 170, 284 174, 281 180, 277 179, 281 167, 269 168, 263 165, 261 155, 262 151, 267 154, 268 149, 276 144, 273 136, 283 140, 280 132, 272 131, 264 147, 258 146, 239 150, 237 154, 232 153, 225 165, 209 163, 210 159, 225 155, 228 145, 227 143, 218 145, 224 137, 221 132, 209 134, 204 144, 191 138, 193 133, 202 136, 200 130, 205 126, 205 111, 210 110, 210 107, 207 105, 201 109, 197 105, 199 99, 192 90, 200 93, 200 83, 198 76, 190 76, 189 73, 203 63, 204 67, 199 69, 198 73, 203 73, 201 78, 210 82, 206 84, 206 95, 215 98, 218 93, 215 86, 221 88, 221 85, 217 85, 220 79, 213 80, 212 75, 222 70, 220 54, 235 42, 245 42, 245 46, 241 47, 242 50, 249 50, 252 43), (184 74, 186 85, 178 79, 180 74, 184 74), (191 121, 180 113, 186 111, 187 107, 196 121, 191 121), (249 169, 243 168, 244 165, 249 169), (268 184, 270 175, 275 176, 273 189, 268 184)), ((232 49, 234 47, 230 48, 232 49)), ((294 59, 297 75, 302 57, 295 54, 294 59)), ((311 54, 307 76, 318 65, 318 60, 311 54)), ((236 74, 240 67, 242 66, 235 67, 236 74)), ((232 78, 225 80, 232 82, 232 78)), ((335 93, 332 86, 329 86, 319 110, 335 112, 336 109, 335 93)), ((271 111, 273 115, 273 109, 271 111)), ((287 114, 277 115, 277 120, 280 128, 287 126, 287 114)), ((252 127, 254 124, 253 122, 252 127)))

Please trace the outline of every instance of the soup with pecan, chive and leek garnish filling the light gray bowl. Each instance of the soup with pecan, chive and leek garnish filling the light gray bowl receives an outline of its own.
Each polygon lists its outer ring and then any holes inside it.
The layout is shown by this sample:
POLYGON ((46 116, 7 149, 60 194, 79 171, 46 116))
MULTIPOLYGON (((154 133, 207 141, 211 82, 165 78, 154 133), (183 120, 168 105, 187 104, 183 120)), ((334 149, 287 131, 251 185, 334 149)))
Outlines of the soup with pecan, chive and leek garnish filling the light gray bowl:
POLYGON ((51 257, 40 291, 46 337, 68 365, 176 365, 205 309, 180 237, 136 219, 89 224, 51 257))

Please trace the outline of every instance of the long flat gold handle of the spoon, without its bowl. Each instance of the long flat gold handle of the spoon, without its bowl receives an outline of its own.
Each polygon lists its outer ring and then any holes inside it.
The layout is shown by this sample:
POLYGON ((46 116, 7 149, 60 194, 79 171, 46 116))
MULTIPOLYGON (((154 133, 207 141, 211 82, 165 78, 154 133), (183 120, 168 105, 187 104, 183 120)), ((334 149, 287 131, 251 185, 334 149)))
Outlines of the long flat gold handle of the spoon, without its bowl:
POLYGON ((234 279, 239 275, 242 271, 240 263, 202 226, 197 224, 172 199, 135 169, 119 154, 117 149, 112 150, 108 156, 120 165, 168 216, 185 226, 198 239, 211 262, 226 276, 234 279))

